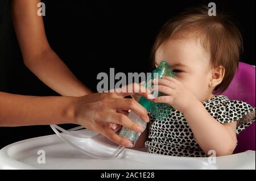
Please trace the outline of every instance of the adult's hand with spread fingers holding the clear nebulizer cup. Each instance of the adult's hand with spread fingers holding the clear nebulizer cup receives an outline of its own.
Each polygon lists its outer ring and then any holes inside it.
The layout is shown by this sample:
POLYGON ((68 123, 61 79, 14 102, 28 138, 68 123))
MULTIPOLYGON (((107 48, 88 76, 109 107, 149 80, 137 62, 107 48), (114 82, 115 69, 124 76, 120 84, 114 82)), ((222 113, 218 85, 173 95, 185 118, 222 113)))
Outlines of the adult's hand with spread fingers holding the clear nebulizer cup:
POLYGON ((150 92, 145 91, 145 88, 138 84, 133 84, 132 86, 133 91, 138 93, 123 92, 127 87, 122 87, 118 92, 95 93, 77 98, 74 107, 75 123, 101 133, 119 145, 132 147, 133 144, 129 140, 116 134, 110 126, 114 123, 123 125, 136 132, 144 131, 141 125, 134 123, 126 115, 117 112, 117 110, 132 110, 143 121, 149 121, 147 110, 141 104, 134 99, 123 97, 135 94, 147 97, 150 95, 150 92))

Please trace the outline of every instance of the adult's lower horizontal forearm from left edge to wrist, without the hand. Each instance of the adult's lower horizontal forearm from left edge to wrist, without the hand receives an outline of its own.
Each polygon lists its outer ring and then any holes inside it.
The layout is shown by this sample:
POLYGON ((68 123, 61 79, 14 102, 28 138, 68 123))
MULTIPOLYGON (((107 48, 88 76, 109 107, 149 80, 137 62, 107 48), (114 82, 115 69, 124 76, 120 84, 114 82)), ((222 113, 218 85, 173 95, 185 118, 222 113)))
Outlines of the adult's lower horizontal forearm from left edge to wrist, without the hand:
POLYGON ((0 126, 75 123, 67 96, 24 96, 0 92, 0 126))

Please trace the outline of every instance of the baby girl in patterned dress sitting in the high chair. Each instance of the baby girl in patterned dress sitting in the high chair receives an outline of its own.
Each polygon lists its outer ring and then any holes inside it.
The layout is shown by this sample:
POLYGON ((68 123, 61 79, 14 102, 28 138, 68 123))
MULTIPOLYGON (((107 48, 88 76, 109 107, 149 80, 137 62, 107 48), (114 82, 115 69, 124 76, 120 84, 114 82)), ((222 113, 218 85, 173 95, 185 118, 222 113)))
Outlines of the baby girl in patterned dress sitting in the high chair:
POLYGON ((236 135, 253 123, 255 108, 216 94, 228 88, 241 52, 241 34, 223 14, 208 16, 202 7, 169 20, 156 37, 152 60, 156 67, 167 61, 174 78, 155 81, 153 90, 165 94, 154 102, 173 110, 161 120, 149 113, 150 125, 135 147, 187 157, 232 154, 236 135))

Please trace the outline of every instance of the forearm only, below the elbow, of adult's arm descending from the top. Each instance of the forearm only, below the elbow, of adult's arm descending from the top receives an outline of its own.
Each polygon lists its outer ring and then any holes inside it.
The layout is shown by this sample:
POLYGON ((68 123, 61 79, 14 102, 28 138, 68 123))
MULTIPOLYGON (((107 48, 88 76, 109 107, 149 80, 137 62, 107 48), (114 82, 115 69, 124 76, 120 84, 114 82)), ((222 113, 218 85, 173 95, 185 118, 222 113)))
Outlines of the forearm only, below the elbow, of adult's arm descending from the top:
POLYGON ((51 48, 25 58, 24 63, 42 82, 60 95, 82 96, 92 92, 73 75, 51 48))

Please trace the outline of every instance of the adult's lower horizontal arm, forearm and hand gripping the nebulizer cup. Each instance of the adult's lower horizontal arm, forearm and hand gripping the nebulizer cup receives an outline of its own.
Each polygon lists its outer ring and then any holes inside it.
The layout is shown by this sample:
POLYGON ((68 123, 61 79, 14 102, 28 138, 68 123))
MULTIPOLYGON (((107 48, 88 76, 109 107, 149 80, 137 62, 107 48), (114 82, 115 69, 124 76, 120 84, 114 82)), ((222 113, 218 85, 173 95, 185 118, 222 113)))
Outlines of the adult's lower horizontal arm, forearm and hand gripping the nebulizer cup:
MULTIPOLYGON (((143 121, 149 121, 147 111, 133 99, 123 98, 133 92, 94 93, 81 97, 24 96, 0 92, 0 126, 47 125, 75 123, 96 131, 123 146, 133 146, 118 136, 111 124, 121 124, 136 132, 141 125, 116 110, 133 110, 143 121)), ((147 96, 146 93, 141 95, 147 96)))

